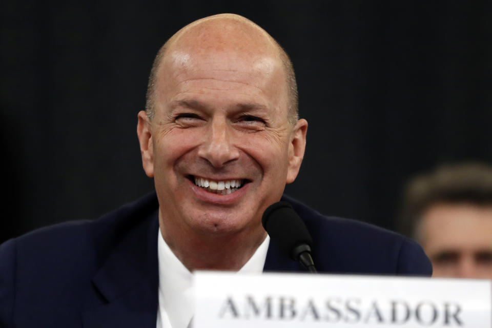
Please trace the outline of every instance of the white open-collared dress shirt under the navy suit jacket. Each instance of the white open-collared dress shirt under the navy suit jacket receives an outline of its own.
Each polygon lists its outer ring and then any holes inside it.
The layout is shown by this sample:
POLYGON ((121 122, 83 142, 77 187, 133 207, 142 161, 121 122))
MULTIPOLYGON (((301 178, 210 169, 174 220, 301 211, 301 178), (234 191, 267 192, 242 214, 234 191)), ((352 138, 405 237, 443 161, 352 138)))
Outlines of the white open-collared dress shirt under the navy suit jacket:
MULTIPOLYGON (((158 232, 159 306, 157 328, 186 328, 193 317, 192 273, 174 255, 158 232)), ((263 240, 253 256, 238 271, 261 273, 267 259, 270 236, 263 240)))

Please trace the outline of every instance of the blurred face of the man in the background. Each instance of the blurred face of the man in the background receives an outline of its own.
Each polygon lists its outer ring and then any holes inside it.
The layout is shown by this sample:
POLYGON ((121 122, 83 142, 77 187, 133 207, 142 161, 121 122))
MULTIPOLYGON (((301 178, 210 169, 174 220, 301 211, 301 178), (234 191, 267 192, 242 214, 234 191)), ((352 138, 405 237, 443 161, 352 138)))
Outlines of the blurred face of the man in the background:
POLYGON ((492 207, 436 204, 420 223, 435 277, 492 279, 492 207))

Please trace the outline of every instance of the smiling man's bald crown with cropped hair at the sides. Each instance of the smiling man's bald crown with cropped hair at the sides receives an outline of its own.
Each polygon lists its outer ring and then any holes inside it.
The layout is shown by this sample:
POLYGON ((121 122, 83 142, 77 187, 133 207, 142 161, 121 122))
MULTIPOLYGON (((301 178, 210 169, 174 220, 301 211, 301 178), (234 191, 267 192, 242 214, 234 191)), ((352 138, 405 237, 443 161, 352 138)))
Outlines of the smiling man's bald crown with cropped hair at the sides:
POLYGON ((152 119, 155 115, 157 76, 164 61, 182 61, 187 56, 213 60, 218 52, 227 52, 229 56, 258 58, 255 65, 259 70, 269 70, 277 64, 281 65, 288 98, 286 112, 289 122, 295 125, 298 120, 297 85, 289 56, 266 31, 251 20, 235 14, 220 14, 196 20, 179 30, 160 48, 149 76, 147 116, 152 119))

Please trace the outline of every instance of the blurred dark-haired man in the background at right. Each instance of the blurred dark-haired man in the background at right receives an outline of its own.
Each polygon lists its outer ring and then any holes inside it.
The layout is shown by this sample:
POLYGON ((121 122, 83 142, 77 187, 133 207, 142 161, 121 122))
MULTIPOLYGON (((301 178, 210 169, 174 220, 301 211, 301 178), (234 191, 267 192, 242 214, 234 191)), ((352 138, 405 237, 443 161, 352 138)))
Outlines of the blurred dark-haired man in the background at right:
POLYGON ((400 223, 424 248, 433 277, 492 279, 491 166, 458 163, 412 178, 400 223))

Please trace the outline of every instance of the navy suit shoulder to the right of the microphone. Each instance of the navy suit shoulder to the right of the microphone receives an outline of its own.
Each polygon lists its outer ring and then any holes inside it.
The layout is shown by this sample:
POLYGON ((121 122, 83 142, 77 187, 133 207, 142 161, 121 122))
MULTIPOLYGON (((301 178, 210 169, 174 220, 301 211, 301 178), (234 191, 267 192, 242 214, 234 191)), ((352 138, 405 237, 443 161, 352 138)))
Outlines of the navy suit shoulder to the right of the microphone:
POLYGON ((313 237, 317 265, 327 272, 361 274, 432 274, 430 261, 414 240, 374 224, 325 216, 289 196, 313 237))

